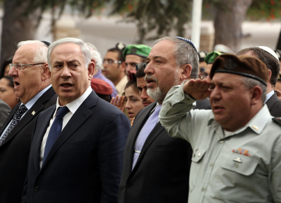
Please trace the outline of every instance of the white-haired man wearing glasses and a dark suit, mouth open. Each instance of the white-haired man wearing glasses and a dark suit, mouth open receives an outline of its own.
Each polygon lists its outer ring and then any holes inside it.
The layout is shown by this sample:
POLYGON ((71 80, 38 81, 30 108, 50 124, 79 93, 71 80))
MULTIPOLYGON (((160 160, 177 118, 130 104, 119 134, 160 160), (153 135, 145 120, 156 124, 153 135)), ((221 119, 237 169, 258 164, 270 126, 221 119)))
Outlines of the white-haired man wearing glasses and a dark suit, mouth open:
POLYGON ((46 69, 47 45, 30 40, 17 47, 9 75, 21 103, 11 110, 0 131, 0 202, 20 202, 35 117, 56 103, 46 69))

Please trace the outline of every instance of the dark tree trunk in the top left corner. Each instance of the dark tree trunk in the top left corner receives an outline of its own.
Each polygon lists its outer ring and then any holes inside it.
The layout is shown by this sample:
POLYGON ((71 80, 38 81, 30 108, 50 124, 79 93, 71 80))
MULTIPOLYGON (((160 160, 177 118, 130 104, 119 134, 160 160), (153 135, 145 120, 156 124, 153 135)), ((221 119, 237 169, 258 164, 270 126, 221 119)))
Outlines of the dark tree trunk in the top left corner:
MULTIPOLYGON (((32 0, 5 0, 3 27, 1 36, 1 66, 7 57, 17 50, 17 43, 22 40, 33 40, 37 31, 39 10, 23 15, 32 0)), ((0 70, 1 71, 1 70, 0 70)))

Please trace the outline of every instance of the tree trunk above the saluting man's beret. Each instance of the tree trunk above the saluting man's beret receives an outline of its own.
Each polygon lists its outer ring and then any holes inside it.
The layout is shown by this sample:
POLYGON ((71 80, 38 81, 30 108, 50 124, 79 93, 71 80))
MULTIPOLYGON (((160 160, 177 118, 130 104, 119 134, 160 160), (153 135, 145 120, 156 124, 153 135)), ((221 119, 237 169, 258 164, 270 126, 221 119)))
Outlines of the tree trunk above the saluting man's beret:
POLYGON ((223 44, 234 52, 238 52, 242 37, 241 24, 245 20, 252 0, 221 1, 225 9, 217 9, 216 11, 214 45, 223 44))

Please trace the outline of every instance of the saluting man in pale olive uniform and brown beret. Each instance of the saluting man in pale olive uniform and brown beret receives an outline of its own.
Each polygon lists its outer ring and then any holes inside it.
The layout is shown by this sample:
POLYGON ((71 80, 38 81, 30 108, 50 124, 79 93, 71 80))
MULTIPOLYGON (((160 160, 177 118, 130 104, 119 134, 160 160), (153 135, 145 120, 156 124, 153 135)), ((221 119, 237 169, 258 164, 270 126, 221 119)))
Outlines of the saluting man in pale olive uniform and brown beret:
POLYGON ((193 149, 188 202, 280 202, 281 122, 264 105, 268 68, 222 54, 209 76, 172 87, 159 114, 193 149), (211 110, 192 110, 207 97, 211 110))

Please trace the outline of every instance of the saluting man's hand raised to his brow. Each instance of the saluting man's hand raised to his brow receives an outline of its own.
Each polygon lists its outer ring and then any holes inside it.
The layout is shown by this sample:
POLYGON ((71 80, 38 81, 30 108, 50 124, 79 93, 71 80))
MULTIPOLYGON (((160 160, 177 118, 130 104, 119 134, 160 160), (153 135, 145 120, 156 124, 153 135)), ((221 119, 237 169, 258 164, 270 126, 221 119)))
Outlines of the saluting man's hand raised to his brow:
POLYGON ((203 100, 211 94, 210 82, 207 80, 188 80, 184 83, 184 92, 195 100, 203 100))

